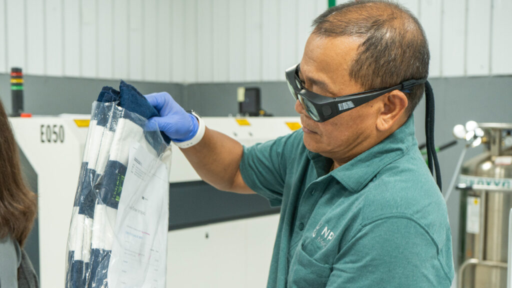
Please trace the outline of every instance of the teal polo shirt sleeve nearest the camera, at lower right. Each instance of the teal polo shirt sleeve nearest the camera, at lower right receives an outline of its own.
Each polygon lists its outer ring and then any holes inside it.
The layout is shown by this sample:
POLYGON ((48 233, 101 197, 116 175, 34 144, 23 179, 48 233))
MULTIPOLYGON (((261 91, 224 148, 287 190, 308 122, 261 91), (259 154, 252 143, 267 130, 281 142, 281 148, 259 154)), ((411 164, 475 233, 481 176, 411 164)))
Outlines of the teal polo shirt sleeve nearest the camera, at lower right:
POLYGON ((342 248, 327 287, 449 288, 453 271, 439 258, 437 244, 414 220, 378 220, 342 248))

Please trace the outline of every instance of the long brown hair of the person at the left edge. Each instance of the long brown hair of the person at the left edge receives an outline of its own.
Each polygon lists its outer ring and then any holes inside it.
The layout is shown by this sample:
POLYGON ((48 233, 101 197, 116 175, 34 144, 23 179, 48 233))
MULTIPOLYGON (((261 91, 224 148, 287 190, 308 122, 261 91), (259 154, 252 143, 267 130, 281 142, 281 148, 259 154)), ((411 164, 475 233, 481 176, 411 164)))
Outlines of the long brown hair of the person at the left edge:
POLYGON ((36 211, 36 196, 22 179, 18 148, 0 101, 0 238, 9 235, 23 246, 36 211))

